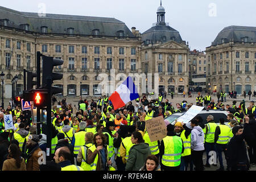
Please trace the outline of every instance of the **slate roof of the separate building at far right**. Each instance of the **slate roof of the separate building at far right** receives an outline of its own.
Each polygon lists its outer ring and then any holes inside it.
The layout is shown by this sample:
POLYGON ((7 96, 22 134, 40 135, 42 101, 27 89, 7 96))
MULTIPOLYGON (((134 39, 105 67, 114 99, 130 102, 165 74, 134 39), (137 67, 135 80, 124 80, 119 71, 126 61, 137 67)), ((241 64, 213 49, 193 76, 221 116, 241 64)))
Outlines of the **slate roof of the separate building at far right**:
POLYGON ((245 37, 247 37, 247 42, 256 43, 256 27, 246 27, 246 26, 228 26, 218 33, 216 39, 212 43, 212 46, 217 46, 223 43, 229 43, 230 41, 244 42, 245 37), (243 39, 242 39, 243 38, 243 39))

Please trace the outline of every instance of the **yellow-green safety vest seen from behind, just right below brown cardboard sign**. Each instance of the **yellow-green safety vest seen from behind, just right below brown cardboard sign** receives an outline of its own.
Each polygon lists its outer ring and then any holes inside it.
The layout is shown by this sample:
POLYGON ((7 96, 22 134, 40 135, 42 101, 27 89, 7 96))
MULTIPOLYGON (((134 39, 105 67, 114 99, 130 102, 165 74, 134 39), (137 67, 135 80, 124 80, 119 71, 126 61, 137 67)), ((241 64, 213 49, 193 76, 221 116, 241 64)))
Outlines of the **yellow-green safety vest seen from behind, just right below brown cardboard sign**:
POLYGON ((168 167, 176 167, 180 165, 182 152, 182 140, 177 136, 167 136, 163 138, 164 154, 162 164, 168 167))

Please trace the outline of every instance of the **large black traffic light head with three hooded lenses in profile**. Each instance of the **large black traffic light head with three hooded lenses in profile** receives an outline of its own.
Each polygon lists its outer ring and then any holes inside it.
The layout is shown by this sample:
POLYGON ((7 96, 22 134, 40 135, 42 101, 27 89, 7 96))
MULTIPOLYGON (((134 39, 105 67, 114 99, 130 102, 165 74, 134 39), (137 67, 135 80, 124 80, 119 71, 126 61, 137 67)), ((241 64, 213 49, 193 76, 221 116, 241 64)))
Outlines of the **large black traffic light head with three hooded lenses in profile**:
MULTIPOLYGON (((53 57, 44 56, 43 55, 43 79, 42 86, 45 88, 47 86, 47 77, 51 77, 53 80, 61 80, 63 78, 63 74, 61 73, 53 73, 53 67, 57 65, 63 65, 64 61, 61 59, 53 59, 53 57)), ((63 89, 52 87, 51 94, 57 94, 63 92, 63 89)))

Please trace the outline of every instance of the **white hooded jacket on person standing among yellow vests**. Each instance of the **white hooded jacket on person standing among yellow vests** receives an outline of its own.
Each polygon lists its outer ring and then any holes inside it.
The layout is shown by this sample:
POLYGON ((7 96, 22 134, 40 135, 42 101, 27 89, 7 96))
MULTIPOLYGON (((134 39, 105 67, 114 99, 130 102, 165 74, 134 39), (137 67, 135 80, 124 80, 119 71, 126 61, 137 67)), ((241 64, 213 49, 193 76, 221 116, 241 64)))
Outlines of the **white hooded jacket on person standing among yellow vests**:
POLYGON ((191 131, 191 149, 195 151, 204 150, 204 131, 200 126, 193 127, 191 131))

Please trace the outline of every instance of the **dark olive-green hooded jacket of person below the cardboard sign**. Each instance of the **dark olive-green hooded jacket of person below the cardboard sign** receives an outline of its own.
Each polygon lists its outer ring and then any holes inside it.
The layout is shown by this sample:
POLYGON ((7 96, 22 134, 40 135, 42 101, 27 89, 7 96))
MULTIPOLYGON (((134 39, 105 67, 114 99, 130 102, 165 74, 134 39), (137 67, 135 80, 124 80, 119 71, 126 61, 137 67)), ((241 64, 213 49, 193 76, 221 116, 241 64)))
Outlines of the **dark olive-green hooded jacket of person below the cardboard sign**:
POLYGON ((125 171, 139 171, 143 167, 148 155, 151 155, 148 143, 135 144, 130 148, 125 171))

